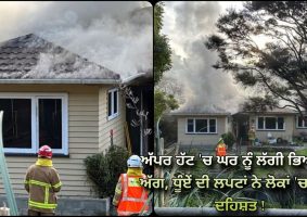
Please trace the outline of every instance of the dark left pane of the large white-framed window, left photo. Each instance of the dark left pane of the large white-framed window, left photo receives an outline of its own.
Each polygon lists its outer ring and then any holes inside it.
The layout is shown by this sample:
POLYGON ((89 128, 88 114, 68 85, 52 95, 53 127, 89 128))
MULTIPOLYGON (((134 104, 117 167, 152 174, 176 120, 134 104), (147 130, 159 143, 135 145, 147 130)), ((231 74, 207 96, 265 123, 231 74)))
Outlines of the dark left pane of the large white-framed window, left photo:
POLYGON ((31 100, 0 99, 3 111, 3 146, 31 148, 31 100))

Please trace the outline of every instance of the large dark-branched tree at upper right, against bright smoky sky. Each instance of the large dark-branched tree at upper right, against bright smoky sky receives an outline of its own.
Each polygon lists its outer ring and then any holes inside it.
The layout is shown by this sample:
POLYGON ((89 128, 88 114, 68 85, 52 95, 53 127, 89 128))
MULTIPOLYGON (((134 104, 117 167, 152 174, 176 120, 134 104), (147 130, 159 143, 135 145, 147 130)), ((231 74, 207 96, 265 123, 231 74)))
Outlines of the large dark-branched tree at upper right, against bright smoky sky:
POLYGON ((307 2, 246 2, 240 11, 228 10, 216 26, 218 34, 205 42, 218 52, 214 67, 259 92, 245 105, 307 110, 307 2))

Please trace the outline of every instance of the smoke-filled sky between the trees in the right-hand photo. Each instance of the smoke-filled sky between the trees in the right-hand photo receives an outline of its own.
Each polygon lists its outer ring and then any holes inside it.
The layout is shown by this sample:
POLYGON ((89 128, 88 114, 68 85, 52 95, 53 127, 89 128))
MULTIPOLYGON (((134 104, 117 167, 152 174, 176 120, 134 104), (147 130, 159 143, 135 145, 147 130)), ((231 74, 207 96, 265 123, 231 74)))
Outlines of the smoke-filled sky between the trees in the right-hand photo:
POLYGON ((172 49, 172 68, 165 79, 181 87, 180 110, 216 110, 235 113, 240 104, 253 94, 235 84, 231 74, 212 67, 217 53, 208 51, 204 42, 216 33, 215 23, 228 8, 242 9, 240 1, 172 1, 165 2, 164 26, 172 49))

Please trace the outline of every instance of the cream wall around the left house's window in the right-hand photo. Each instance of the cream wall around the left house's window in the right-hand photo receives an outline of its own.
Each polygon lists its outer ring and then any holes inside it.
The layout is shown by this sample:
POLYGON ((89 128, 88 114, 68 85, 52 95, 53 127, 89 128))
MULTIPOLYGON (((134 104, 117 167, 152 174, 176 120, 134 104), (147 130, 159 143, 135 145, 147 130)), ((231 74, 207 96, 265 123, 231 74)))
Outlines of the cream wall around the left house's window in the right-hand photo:
MULTIPOLYGON (((197 116, 195 118, 217 118, 217 133, 214 135, 189 135, 186 133, 187 118, 190 116, 178 117, 178 143, 180 144, 216 144, 222 133, 227 132, 227 117, 226 116, 197 116)), ((191 118, 193 118, 191 116, 191 118)))

